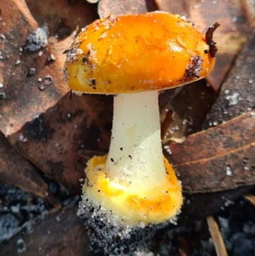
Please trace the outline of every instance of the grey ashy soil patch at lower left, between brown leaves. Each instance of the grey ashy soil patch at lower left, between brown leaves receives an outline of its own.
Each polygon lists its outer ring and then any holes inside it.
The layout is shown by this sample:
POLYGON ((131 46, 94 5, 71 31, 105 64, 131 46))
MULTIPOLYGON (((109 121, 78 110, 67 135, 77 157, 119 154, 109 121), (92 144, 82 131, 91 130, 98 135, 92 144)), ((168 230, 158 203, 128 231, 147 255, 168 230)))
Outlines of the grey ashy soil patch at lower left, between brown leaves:
MULTIPOLYGON (((78 200, 54 181, 48 181, 48 188, 63 207, 78 200)), ((52 206, 40 197, 0 182, 0 245, 20 231, 32 234, 36 222, 51 210, 52 206)))

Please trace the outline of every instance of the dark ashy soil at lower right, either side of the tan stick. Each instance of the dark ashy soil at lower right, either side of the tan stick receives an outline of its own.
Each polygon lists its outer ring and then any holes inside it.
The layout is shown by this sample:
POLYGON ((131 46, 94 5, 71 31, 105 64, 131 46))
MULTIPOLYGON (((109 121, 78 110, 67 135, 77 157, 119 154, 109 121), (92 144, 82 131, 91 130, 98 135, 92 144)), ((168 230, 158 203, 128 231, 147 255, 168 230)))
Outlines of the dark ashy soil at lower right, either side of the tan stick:
MULTIPOLYGON (((255 255, 254 213, 254 206, 245 200, 238 200, 228 202, 226 207, 222 207, 214 215, 228 250, 228 256, 255 255)), ((159 253, 161 256, 216 256, 205 219, 158 232, 151 248, 153 255, 159 253), (181 254, 180 250, 186 254, 181 254)))

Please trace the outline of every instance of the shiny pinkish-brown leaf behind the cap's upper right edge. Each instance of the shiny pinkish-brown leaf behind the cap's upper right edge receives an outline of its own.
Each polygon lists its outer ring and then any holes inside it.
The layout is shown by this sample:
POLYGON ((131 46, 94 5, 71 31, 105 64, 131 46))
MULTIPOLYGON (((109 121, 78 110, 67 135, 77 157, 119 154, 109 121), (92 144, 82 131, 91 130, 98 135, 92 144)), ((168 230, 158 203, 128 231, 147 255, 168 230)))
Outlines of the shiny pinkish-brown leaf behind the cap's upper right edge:
POLYGON ((187 19, 191 20, 203 33, 215 22, 221 24, 214 33, 214 41, 219 48, 217 61, 213 72, 207 77, 210 85, 218 92, 251 33, 251 26, 246 19, 247 13, 240 1, 183 0, 179 1, 178 5, 177 3, 173 5, 171 0, 156 2, 159 10, 170 12, 180 10, 181 15, 184 12, 187 13, 187 19))

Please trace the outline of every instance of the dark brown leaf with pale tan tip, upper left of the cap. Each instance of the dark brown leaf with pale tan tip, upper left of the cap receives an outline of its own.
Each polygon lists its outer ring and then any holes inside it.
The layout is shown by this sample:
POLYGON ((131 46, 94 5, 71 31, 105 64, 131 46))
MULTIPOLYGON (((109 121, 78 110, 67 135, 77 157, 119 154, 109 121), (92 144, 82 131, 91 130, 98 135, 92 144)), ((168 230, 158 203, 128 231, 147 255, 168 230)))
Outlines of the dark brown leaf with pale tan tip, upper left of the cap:
POLYGON ((39 26, 47 24, 50 32, 48 42, 61 66, 66 60, 63 52, 75 40, 76 31, 98 19, 95 6, 85 0, 26 0, 26 3, 39 26))

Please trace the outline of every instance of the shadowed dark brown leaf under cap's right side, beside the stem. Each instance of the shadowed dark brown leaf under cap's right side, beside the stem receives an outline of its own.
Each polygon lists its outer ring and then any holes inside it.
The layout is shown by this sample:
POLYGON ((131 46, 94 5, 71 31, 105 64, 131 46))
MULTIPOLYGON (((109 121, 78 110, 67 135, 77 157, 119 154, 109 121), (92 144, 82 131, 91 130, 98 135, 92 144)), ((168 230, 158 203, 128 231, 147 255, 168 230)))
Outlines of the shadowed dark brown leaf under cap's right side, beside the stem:
MULTIPOLYGON (((174 121, 165 133, 163 144, 171 140, 183 140, 184 137, 198 132, 208 110, 215 102, 216 94, 207 86, 205 79, 177 88, 181 91, 161 109, 161 119, 164 119, 168 110, 173 110, 174 113, 174 121)), ((171 92, 171 89, 168 91, 171 92)))

